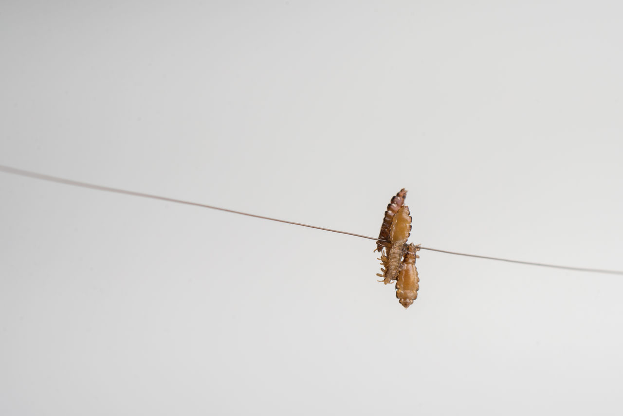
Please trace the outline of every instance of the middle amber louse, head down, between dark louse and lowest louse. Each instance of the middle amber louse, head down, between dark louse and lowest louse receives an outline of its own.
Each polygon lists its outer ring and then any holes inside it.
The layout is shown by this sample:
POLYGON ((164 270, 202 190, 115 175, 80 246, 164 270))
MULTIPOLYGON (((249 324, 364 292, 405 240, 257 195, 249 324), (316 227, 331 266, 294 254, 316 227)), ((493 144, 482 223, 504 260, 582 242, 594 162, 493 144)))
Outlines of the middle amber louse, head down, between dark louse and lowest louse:
POLYGON ((406 250, 407 239, 411 235, 411 215, 409 215, 409 207, 406 205, 400 207, 394 218, 392 219, 391 226, 389 227, 389 241, 391 245, 389 250, 383 248, 381 254, 381 272, 377 274, 378 277, 382 277, 383 283, 386 285, 396 280, 398 272, 402 266, 402 255, 406 250))

